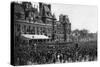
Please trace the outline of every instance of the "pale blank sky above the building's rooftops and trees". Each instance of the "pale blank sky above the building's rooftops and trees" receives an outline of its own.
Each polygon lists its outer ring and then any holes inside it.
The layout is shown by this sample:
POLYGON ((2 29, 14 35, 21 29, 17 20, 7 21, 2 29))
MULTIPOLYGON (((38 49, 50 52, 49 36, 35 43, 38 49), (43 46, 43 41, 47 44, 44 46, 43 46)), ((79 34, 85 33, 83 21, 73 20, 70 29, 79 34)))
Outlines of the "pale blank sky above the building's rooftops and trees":
MULTIPOLYGON (((33 6, 38 3, 33 3, 33 6)), ((39 6, 39 5, 38 5, 39 6)), ((35 6, 37 7, 37 6, 35 6)), ((87 29, 89 32, 97 32, 98 9, 96 6, 72 5, 72 4, 52 4, 51 12, 54 13, 57 20, 60 14, 68 15, 71 29, 87 29)))

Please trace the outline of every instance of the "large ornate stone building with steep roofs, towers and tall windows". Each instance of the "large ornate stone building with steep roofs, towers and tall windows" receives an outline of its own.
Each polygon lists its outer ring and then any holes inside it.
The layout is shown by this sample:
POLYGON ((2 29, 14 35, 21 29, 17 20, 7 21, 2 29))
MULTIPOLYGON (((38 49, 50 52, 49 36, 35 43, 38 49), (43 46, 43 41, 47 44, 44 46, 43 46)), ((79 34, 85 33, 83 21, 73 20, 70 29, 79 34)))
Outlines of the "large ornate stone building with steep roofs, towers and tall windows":
POLYGON ((46 35, 53 41, 67 41, 71 33, 68 16, 60 15, 59 21, 56 21, 50 4, 39 3, 39 11, 37 9, 30 2, 14 3, 15 35, 46 35))

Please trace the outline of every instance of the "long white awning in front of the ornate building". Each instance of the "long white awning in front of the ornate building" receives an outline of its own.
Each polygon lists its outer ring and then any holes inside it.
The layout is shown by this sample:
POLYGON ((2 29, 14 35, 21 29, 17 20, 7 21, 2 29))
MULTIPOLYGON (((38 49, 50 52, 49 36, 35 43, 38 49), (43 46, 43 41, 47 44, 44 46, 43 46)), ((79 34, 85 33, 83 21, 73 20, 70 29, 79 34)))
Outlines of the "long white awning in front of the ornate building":
POLYGON ((50 39, 48 36, 45 35, 32 35, 32 34, 22 34, 27 39, 50 39))

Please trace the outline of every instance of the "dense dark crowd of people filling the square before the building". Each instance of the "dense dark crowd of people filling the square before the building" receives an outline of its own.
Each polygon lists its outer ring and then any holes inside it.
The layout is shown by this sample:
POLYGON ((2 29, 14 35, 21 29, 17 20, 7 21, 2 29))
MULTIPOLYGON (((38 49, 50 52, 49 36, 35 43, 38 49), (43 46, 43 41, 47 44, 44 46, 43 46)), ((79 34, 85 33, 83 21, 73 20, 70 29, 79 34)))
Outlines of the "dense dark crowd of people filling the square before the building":
MULTIPOLYGON (((20 45, 23 45, 22 42, 20 45)), ((38 44, 36 44, 38 45, 38 44)), ((71 44, 70 44, 71 45, 71 44)), ((67 46, 67 44, 59 49, 35 49, 34 45, 16 47, 15 49, 15 64, 16 65, 30 65, 30 64, 51 64, 51 63, 67 63, 67 62, 82 62, 97 60, 97 46, 85 46, 75 43, 74 46, 67 46)))

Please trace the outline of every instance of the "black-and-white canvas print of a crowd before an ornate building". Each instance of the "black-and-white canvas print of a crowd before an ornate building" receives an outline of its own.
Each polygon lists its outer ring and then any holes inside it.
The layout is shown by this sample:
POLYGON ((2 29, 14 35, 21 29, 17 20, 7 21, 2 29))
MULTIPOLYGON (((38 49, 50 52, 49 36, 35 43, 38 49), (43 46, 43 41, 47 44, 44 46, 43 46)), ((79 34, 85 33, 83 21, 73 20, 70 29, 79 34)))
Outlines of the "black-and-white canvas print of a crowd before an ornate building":
POLYGON ((45 2, 11 2, 11 65, 98 60, 98 8, 45 2))

